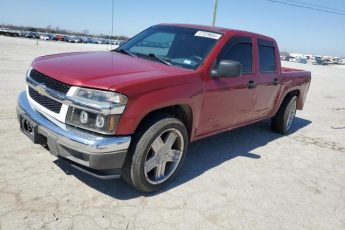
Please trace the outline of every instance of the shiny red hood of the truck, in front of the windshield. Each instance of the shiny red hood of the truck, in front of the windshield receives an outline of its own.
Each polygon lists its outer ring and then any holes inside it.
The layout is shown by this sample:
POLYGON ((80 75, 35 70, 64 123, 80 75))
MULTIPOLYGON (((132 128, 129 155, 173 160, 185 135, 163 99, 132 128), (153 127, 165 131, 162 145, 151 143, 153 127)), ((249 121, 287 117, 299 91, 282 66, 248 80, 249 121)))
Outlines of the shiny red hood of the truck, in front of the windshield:
POLYGON ((190 74, 187 69, 117 52, 78 52, 36 58, 32 67, 69 85, 113 89, 131 82, 190 74))

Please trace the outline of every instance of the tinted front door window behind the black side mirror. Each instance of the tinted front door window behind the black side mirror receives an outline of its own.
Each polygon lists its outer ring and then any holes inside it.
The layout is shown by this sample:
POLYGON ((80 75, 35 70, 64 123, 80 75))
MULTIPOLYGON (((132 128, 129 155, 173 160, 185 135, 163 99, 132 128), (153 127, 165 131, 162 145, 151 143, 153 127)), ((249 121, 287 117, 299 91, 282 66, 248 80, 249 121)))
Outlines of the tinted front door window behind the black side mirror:
POLYGON ((229 47, 220 56, 219 60, 238 61, 242 65, 242 73, 252 72, 252 43, 230 42, 229 47))

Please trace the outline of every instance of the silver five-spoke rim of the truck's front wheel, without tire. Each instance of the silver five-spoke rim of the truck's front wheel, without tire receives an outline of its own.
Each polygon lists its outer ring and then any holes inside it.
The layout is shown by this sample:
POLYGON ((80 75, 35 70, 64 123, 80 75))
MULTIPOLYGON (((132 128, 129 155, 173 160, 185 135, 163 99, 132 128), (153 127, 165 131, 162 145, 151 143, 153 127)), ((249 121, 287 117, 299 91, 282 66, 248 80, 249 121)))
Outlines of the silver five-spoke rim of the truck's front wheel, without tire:
POLYGON ((144 163, 146 180, 151 184, 160 184, 176 171, 184 150, 182 133, 177 129, 162 132, 152 142, 144 163))

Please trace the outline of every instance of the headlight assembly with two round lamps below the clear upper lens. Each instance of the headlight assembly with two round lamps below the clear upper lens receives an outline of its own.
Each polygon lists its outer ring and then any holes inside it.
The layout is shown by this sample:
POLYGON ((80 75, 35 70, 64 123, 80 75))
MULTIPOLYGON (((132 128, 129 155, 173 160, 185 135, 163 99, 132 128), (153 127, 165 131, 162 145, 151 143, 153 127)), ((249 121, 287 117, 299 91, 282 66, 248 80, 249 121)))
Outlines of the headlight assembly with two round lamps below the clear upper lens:
POLYGON ((72 97, 79 104, 70 105, 67 124, 103 134, 115 133, 127 103, 126 96, 110 91, 77 88, 72 97))

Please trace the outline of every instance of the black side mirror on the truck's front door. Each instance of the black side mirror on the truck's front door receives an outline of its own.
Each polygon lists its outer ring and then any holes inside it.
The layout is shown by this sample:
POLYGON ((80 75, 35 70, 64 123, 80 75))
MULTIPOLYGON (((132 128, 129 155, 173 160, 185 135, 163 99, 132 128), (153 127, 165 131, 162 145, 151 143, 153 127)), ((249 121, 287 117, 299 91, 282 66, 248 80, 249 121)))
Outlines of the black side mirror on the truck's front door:
POLYGON ((237 61, 222 60, 212 70, 212 77, 238 77, 241 75, 242 65, 237 61))

